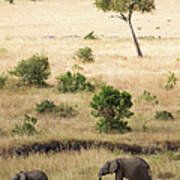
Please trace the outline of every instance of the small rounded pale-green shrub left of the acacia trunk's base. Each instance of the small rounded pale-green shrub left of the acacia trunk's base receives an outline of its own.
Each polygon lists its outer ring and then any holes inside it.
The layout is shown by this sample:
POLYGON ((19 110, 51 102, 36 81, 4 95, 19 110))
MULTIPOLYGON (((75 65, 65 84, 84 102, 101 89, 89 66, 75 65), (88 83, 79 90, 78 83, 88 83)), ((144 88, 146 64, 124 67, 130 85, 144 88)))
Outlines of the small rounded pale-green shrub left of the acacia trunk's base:
POLYGON ((83 63, 94 61, 92 49, 89 47, 78 49, 77 52, 75 53, 74 58, 79 59, 83 63))

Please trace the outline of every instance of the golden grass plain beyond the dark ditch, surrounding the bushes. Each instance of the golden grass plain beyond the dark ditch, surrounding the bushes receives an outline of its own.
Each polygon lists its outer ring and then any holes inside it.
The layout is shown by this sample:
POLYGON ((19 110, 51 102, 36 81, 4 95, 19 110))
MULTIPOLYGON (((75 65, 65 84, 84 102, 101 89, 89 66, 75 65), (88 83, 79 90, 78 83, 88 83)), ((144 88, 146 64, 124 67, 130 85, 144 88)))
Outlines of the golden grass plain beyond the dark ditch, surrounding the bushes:
MULTIPOLYGON (((171 9, 179 5, 171 2, 171 9)), ((167 81, 168 71, 175 72, 179 78, 180 62, 177 61, 180 52, 178 38, 179 24, 177 11, 168 11, 164 8, 169 6, 169 1, 157 2, 157 11, 149 15, 136 14, 134 24, 144 28, 139 35, 158 36, 162 39, 140 40, 145 54, 144 59, 136 57, 136 52, 129 32, 125 24, 115 19, 108 19, 110 14, 97 11, 92 5, 93 1, 40 1, 26 2, 17 1, 10 6, 1 2, 0 6, 0 73, 13 69, 21 59, 29 58, 34 53, 45 53, 49 57, 51 76, 48 83, 50 88, 15 88, 6 86, 0 90, 0 128, 3 133, 0 146, 12 145, 36 141, 46 141, 62 138, 85 138, 94 140, 109 140, 126 142, 130 144, 151 144, 158 141, 179 141, 180 121, 176 114, 179 104, 179 89, 177 83, 173 90, 167 91, 164 86, 167 81), (166 12, 167 13, 167 12, 166 12), (7 19, 8 18, 8 19, 7 19), (140 22, 140 19, 142 20, 140 22), (171 19, 169 24, 166 21, 171 19), (156 21, 156 23, 155 23, 156 21), (88 26, 87 26, 88 23, 88 26), (161 28, 157 26, 167 26, 161 28), (171 30, 173 28, 173 31, 171 30), (95 30, 99 40, 83 40, 82 37, 95 30), (158 34, 159 33, 159 34, 158 34), (173 33, 173 34, 172 34, 173 33), (81 38, 62 38, 66 35, 79 35, 81 38), (101 34, 104 36, 101 37, 101 34), (54 35, 54 39, 45 39, 44 36, 54 35), (118 35, 120 38, 113 39, 110 36, 118 35), (120 90, 127 90, 133 96, 133 101, 144 90, 156 95, 160 104, 153 107, 151 104, 134 104, 135 116, 129 120, 133 131, 118 135, 101 135, 95 130, 96 120, 90 115, 89 102, 93 94, 76 93, 61 94, 55 90, 56 76, 72 70, 74 64, 74 52, 84 46, 93 49, 95 62, 80 64, 80 70, 88 79, 104 81, 120 90), (35 104, 44 99, 55 101, 56 104, 68 102, 79 106, 77 117, 64 119, 52 114, 38 115, 35 112, 35 104), (153 119, 155 110, 168 110, 175 115, 175 121, 164 122, 153 119), (42 134, 37 137, 10 137, 10 131, 16 123, 23 122, 24 114, 38 118, 37 128, 42 134), (147 132, 143 132, 143 126, 147 132), (14 141, 16 139, 16 141, 14 141)))

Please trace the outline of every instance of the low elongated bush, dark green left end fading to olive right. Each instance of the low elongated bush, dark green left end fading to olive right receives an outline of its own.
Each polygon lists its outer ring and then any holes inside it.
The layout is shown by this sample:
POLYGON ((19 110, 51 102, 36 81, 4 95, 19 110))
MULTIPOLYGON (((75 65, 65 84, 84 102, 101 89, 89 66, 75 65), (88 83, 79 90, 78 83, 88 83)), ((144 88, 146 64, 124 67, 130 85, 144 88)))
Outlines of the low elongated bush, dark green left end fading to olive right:
POLYGON ((36 111, 38 113, 53 112, 61 117, 72 117, 77 114, 74 107, 60 104, 55 105, 53 101, 44 100, 40 104, 36 104, 36 111))

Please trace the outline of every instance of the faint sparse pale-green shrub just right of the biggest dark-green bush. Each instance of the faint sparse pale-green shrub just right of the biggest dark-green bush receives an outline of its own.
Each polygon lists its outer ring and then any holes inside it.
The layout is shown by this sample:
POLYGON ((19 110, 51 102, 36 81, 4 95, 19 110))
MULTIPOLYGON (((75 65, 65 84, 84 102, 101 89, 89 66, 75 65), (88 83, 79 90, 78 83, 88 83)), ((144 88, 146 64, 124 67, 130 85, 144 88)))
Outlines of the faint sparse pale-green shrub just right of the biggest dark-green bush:
POLYGON ((159 104, 156 96, 152 96, 149 91, 144 90, 143 94, 139 96, 135 102, 140 103, 142 101, 152 103, 153 105, 159 104))

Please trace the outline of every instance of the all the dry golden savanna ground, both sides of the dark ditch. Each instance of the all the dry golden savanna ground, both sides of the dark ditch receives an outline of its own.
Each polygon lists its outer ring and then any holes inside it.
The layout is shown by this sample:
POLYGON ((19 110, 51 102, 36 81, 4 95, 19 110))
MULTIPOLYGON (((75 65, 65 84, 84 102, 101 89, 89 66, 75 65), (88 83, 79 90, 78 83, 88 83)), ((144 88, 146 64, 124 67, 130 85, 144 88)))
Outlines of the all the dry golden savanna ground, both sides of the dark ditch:
MULTIPOLYGON (((93 6, 93 0, 15 1, 14 5, 0 1, 0 73, 12 70, 22 59, 35 53, 46 54, 51 66, 48 88, 16 87, 13 82, 0 90, 0 149, 34 142, 83 139, 113 143, 159 146, 167 141, 180 143, 180 21, 178 0, 159 0, 156 11, 148 15, 134 15, 134 27, 144 58, 136 57, 135 47, 126 24, 119 19, 108 18, 93 6), (94 30, 98 40, 84 40, 94 30), (77 35, 79 38, 75 38, 77 35), (53 38, 50 38, 53 36, 53 38), (70 37, 72 36, 72 37, 70 37), (95 61, 81 64, 72 56, 80 47, 89 46, 95 61), (89 102, 93 93, 59 93, 56 77, 73 70, 74 64, 89 81, 112 85, 126 90, 133 97, 134 116, 128 120, 132 132, 125 134, 99 134, 96 119, 90 112, 89 102), (177 78, 175 87, 166 90, 168 72, 177 78), (135 103, 135 99, 147 90, 157 96, 159 104, 135 103), (44 99, 56 104, 66 102, 78 105, 78 115, 60 118, 53 114, 39 115, 35 105, 44 99), (156 110, 172 112, 173 121, 155 120, 156 110), (24 114, 38 119, 34 136, 10 135, 15 124, 23 122, 24 114)), ((77 70, 76 70, 77 71, 77 70)), ((79 153, 49 155, 31 154, 27 158, 0 158, 2 180, 11 179, 20 170, 42 169, 52 180, 96 179, 99 167, 107 160, 131 156, 123 152, 88 150, 79 153)), ((151 165, 154 179, 180 179, 179 161, 175 154, 142 156, 151 165)), ((107 176, 105 179, 112 179, 107 176)))

